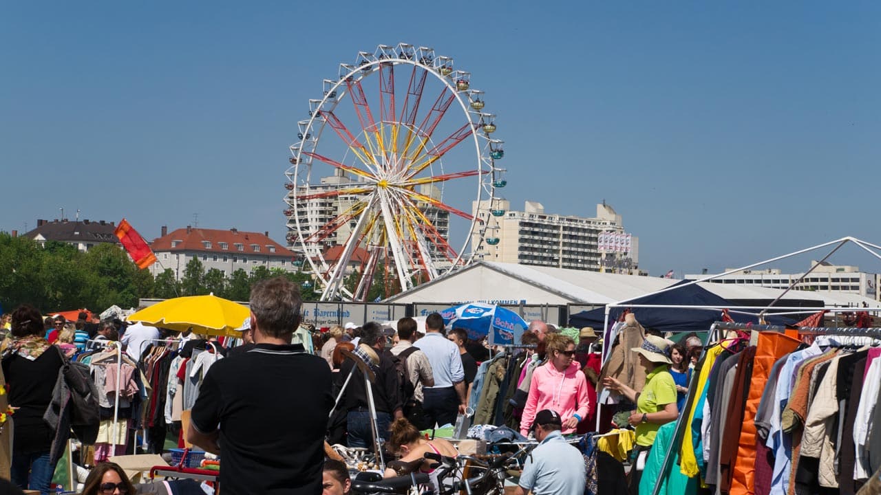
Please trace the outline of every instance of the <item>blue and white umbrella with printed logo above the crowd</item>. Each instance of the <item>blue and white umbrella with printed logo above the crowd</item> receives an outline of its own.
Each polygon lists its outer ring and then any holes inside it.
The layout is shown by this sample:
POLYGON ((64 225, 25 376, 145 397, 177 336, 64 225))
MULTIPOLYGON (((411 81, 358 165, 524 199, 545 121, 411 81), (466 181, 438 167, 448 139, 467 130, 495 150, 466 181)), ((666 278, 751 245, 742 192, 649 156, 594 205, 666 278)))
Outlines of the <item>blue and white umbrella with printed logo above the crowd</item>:
POLYGON ((449 307, 441 311, 441 317, 448 327, 465 329, 470 339, 489 336, 490 344, 516 344, 528 326, 510 309, 482 302, 449 307))

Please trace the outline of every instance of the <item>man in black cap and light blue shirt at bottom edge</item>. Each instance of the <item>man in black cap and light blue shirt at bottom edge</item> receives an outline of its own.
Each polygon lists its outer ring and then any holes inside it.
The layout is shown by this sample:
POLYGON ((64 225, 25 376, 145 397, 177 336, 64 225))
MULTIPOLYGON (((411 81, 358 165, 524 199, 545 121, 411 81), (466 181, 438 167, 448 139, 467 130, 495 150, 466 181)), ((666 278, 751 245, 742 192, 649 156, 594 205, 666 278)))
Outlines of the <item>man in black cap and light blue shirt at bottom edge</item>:
POLYGON ((538 411, 532 423, 538 447, 526 457, 515 495, 582 495, 587 474, 584 458, 560 433, 563 420, 555 410, 538 411))

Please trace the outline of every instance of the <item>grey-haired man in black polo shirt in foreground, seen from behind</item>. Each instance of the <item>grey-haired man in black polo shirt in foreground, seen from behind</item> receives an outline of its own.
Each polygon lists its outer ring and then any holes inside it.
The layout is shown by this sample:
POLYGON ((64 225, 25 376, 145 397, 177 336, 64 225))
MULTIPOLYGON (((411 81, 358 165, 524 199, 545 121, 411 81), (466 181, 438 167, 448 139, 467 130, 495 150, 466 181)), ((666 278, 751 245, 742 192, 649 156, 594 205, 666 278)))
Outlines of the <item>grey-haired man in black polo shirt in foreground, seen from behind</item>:
POLYGON ((284 277, 251 289, 255 348, 205 375, 187 439, 220 454, 224 495, 322 492, 333 406, 327 361, 291 345, 300 292, 284 277))

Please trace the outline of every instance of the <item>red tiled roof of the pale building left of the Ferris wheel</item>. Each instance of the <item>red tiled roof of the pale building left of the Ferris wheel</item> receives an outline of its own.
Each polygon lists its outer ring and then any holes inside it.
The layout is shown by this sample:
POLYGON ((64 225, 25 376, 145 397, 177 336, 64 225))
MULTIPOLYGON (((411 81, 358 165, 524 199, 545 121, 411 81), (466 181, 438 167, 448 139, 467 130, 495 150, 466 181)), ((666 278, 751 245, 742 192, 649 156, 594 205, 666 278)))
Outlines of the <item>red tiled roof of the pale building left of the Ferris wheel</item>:
POLYGON ((271 240, 265 233, 244 232, 236 229, 199 229, 182 228, 168 233, 152 241, 150 245, 153 252, 160 251, 202 251, 206 253, 236 253, 246 255, 277 256, 279 258, 292 258, 296 255, 293 251, 271 240), (172 241, 177 241, 172 247, 172 241), (211 247, 205 244, 210 242, 211 247), (221 247, 226 243, 226 249, 221 247), (241 244, 241 251, 239 245, 241 244), (260 248, 256 251, 254 246, 260 248), (270 252, 269 246, 275 247, 275 252, 270 252))

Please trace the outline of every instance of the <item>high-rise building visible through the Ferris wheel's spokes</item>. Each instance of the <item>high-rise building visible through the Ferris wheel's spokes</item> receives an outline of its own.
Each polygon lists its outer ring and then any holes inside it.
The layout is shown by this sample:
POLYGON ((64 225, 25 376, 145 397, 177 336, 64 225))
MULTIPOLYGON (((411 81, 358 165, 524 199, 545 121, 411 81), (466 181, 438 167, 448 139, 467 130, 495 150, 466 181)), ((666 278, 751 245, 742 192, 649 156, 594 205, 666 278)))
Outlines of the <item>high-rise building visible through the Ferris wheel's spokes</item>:
MULTIPOLYGON (((339 188, 345 188, 348 184, 354 185, 356 182, 352 180, 344 171, 337 171, 335 175, 322 177, 321 184, 312 184, 307 189, 304 186, 293 188, 287 195, 287 203, 296 208, 300 215, 300 230, 303 232, 315 234, 329 232, 326 236, 316 234, 315 239, 310 241, 307 246, 306 255, 314 256, 318 252, 325 252, 329 247, 341 246, 352 234, 352 229, 358 222, 356 215, 349 216, 352 207, 359 202, 361 195, 341 195, 328 197, 312 197, 306 201, 296 202, 296 196, 317 196, 322 192, 336 191, 339 188), (303 222, 305 221, 305 225, 303 222), (332 230, 327 225, 338 225, 336 230, 332 230), (332 232, 330 232, 332 230, 332 232)), ((419 194, 428 196, 433 199, 441 199, 441 190, 433 184, 423 184, 418 187, 419 194)), ((449 212, 441 210, 428 203, 418 203, 418 208, 428 218, 438 233, 444 240, 449 240, 449 212)), ((293 209, 285 211, 288 234, 285 238, 287 247, 293 251, 301 252, 300 240, 297 232, 297 222, 294 219, 293 209)), ((378 235, 378 232, 376 233, 378 235)), ((309 235, 309 234, 307 234, 309 235)), ((378 241, 378 239, 375 239, 378 241)), ((366 240, 368 243, 370 240, 366 240)), ((414 246, 415 248, 415 246, 414 246)), ((431 253, 436 254, 438 251, 432 243, 428 243, 428 249, 431 253)))

